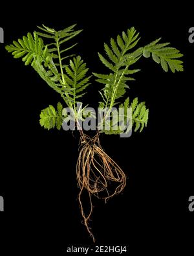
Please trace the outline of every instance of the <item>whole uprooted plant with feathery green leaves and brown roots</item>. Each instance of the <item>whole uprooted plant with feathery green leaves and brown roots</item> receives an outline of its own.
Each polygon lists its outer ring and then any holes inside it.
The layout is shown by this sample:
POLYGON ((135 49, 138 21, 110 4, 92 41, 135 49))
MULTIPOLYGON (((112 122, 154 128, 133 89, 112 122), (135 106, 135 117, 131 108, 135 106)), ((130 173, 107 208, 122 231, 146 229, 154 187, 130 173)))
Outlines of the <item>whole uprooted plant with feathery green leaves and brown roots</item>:
MULTIPOLYGON (((169 47, 169 43, 160 43, 161 38, 149 43, 144 47, 137 48, 140 40, 139 34, 132 27, 122 32, 117 38, 111 38, 109 43, 104 44, 105 53, 98 52, 107 73, 91 73, 80 56, 69 54, 76 43, 69 47, 67 41, 72 40, 80 34, 81 30, 75 30, 72 25, 63 30, 55 30, 42 25, 39 31, 13 41, 6 46, 14 58, 21 58, 25 65, 31 65, 48 86, 61 95, 63 104, 57 107, 50 105, 40 114, 40 124, 45 129, 61 129, 64 123, 74 119, 74 129, 80 134, 80 147, 76 174, 80 192, 78 201, 80 203, 81 215, 87 231, 93 241, 89 220, 92 215, 92 196, 102 198, 105 202, 116 194, 123 191, 126 185, 124 171, 109 157, 100 145, 100 134, 124 135, 134 128, 142 131, 147 125, 148 109, 145 102, 138 102, 138 98, 129 100, 127 88, 129 83, 135 80, 135 73, 140 69, 134 69, 134 65, 140 58, 152 58, 156 64, 161 65, 164 71, 183 71, 182 54, 175 48, 169 47), (47 43, 46 43, 47 42, 47 43), (99 90, 102 119, 96 124, 96 135, 90 137, 81 128, 81 122, 88 117, 93 117, 92 111, 87 111, 87 106, 78 108, 82 103, 83 95, 87 87, 91 86, 92 77, 102 84, 99 90), (124 100, 125 99, 125 100, 124 100), (122 103, 121 103, 122 102, 122 103), (71 115, 67 114, 66 107, 71 115), (114 110, 113 110, 114 108, 114 110), (124 123, 120 124, 118 119, 113 118, 115 108, 122 108, 124 123), (131 111, 127 111, 127 110, 131 111), (130 122, 128 123, 127 120, 130 122), (126 125, 128 124, 128 126, 126 125), (89 194, 89 209, 83 209, 83 192, 89 194)), ((69 43, 69 42, 68 42, 69 43)), ((93 81, 92 81, 93 83, 93 81)), ((118 112, 116 112, 118 115, 118 112)), ((65 130, 65 129, 64 129, 65 130)))

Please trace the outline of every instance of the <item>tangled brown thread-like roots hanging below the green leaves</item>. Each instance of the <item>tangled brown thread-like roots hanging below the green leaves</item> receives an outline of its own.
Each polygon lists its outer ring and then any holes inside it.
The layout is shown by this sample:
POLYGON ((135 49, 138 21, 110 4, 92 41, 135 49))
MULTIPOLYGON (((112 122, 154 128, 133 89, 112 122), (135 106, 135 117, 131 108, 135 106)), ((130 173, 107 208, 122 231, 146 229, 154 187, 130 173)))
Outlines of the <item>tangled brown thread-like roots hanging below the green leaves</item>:
POLYGON ((92 195, 107 200, 119 194, 126 185, 126 176, 122 169, 109 157, 100 146, 99 132, 94 137, 81 134, 80 155, 78 157, 76 174, 80 192, 78 200, 83 217, 83 224, 95 242, 94 235, 89 227, 92 215, 92 195), (86 190, 89 194, 89 213, 83 209, 81 195, 86 190))

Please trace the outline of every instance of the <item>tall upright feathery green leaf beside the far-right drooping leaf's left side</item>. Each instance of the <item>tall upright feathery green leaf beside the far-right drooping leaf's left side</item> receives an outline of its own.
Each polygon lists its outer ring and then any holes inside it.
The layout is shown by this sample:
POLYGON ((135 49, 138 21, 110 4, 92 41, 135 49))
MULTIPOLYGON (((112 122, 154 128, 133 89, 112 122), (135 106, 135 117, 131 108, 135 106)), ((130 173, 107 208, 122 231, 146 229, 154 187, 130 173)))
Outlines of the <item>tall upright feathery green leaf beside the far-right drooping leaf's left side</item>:
POLYGON ((111 38, 110 46, 104 44, 108 59, 98 53, 101 62, 111 70, 108 75, 93 73, 97 77, 96 81, 105 85, 102 90, 103 94, 101 93, 105 106, 112 108, 117 104, 116 100, 123 97, 126 88, 129 87, 127 81, 135 80, 131 75, 139 69, 130 70, 129 67, 140 58, 142 51, 138 54, 129 51, 140 40, 138 35, 132 27, 126 33, 122 32, 122 36, 118 35, 116 40, 111 38))

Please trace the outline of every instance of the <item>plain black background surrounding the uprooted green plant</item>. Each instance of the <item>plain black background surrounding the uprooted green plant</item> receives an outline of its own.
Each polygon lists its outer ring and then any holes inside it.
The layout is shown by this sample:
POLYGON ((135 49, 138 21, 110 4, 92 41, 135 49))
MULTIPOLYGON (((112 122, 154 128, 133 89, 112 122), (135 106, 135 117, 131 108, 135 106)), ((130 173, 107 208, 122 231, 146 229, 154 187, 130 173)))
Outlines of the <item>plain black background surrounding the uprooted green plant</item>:
MULTIPOLYGON (((140 32, 139 45, 162 37, 184 54, 183 73, 165 73, 145 58, 136 64, 142 71, 127 93, 146 100, 148 126, 129 138, 102 135, 103 148, 127 174, 127 187, 106 205, 94 200, 91 226, 96 245, 124 245, 131 255, 192 250, 194 44, 188 41, 191 8, 184 3, 170 8, 56 1, 47 8, 48 3, 43 8, 27 2, 1 8, 0 195, 5 212, 0 250, 5 248, 5 255, 63 255, 67 246, 92 246, 78 208, 78 136, 41 128, 40 111, 61 99, 30 66, 5 51, 6 44, 42 23, 58 30, 77 23, 83 32, 74 40, 79 41, 76 53, 97 73, 107 71, 97 55, 103 43, 132 26, 140 32)), ((85 103, 97 106, 98 89, 93 80, 85 103)))

